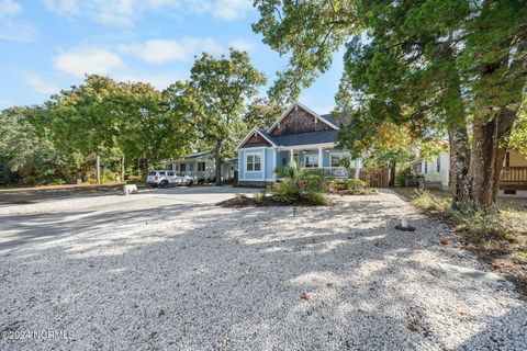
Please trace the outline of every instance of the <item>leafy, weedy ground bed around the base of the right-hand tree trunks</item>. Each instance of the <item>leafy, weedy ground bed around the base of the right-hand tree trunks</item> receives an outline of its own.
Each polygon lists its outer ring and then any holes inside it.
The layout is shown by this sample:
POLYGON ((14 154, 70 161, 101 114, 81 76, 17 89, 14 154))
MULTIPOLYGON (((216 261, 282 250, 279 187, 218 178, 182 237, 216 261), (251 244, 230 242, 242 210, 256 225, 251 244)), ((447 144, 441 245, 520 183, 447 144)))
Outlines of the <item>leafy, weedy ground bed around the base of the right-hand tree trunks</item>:
POLYGON ((453 212, 445 191, 396 188, 414 206, 451 226, 463 246, 515 283, 527 298, 527 199, 498 197, 496 212, 453 212))

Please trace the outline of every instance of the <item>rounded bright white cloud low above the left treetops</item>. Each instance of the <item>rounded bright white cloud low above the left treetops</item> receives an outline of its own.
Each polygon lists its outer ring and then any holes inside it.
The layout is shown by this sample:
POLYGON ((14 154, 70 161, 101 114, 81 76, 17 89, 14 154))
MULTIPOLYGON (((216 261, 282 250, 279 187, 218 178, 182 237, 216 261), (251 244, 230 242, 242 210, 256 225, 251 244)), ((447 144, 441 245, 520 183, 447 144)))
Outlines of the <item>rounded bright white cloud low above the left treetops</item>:
POLYGON ((126 65, 120 56, 100 48, 61 52, 54 58, 55 68, 63 73, 83 77, 86 73, 109 75, 126 65))

